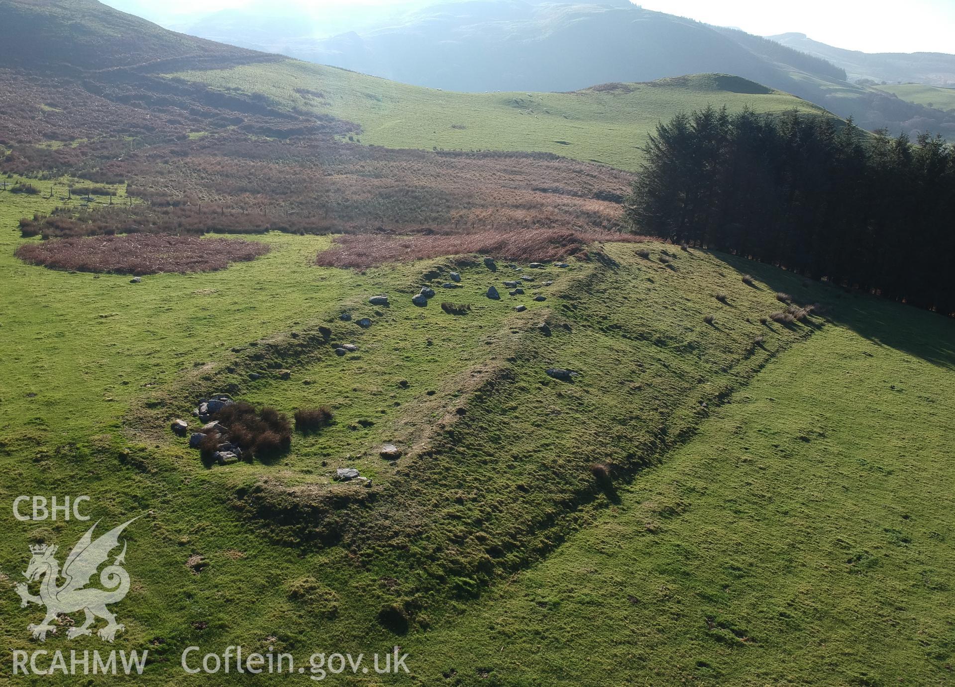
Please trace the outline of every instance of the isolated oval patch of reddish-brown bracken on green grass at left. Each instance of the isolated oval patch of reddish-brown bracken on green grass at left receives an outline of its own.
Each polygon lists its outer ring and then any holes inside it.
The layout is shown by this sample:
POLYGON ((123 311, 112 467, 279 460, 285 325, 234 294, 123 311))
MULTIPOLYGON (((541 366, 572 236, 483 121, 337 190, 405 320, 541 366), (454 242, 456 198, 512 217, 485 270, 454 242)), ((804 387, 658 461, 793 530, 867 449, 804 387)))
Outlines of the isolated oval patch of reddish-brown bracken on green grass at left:
POLYGON ((16 257, 51 269, 145 275, 212 272, 267 252, 268 245, 259 241, 131 234, 26 243, 16 257))

